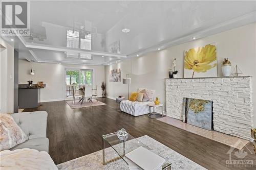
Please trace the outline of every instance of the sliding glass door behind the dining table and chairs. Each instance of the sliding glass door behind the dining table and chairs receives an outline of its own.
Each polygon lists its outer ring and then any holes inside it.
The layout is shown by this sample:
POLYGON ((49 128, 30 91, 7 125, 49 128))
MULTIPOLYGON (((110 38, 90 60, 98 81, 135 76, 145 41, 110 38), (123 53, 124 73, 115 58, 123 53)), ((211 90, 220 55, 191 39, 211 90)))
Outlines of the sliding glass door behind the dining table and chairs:
POLYGON ((66 97, 79 94, 82 86, 93 85, 93 70, 91 69, 67 69, 66 70, 66 97), (73 90, 74 89, 74 90, 73 90))

